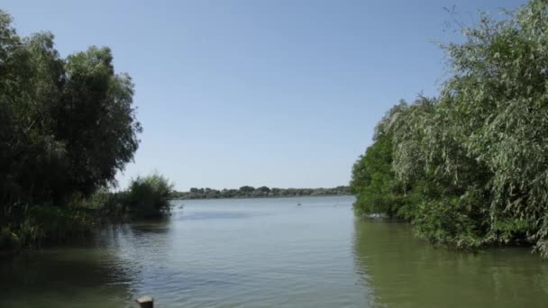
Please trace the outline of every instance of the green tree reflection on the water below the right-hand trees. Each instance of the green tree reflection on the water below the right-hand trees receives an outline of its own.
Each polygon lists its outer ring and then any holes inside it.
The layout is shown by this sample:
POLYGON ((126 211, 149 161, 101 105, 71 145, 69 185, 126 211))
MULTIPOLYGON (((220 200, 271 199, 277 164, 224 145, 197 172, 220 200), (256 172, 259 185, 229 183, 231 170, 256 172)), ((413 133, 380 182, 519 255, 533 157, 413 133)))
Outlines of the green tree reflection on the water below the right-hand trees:
POLYGON ((371 306, 544 307, 548 263, 528 249, 435 249, 402 222, 357 219, 354 261, 371 306))

